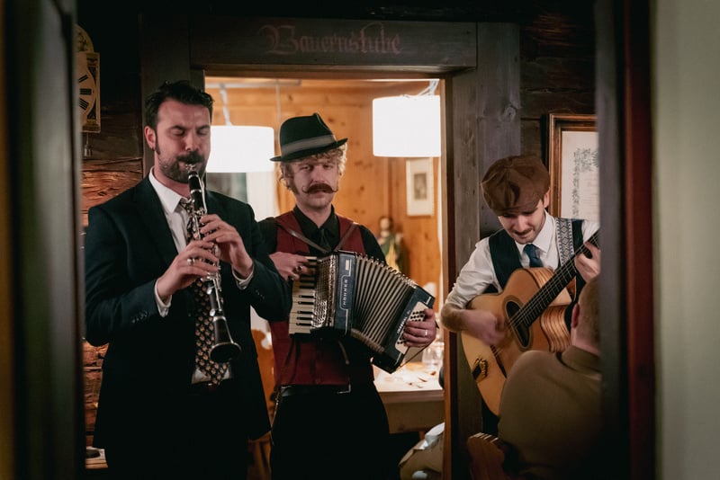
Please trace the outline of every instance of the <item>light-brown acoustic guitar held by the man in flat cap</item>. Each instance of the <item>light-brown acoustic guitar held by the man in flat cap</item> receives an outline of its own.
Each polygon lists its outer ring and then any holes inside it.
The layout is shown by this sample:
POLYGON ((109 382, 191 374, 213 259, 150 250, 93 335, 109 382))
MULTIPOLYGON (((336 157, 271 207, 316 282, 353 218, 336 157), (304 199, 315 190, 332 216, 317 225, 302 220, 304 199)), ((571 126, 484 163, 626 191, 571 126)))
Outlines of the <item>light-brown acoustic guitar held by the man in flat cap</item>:
MULTIPOLYGON (((595 232, 588 241, 597 246, 598 234, 595 232)), ((482 400, 492 413, 500 412, 505 378, 520 353, 562 351, 570 344, 565 309, 572 298, 567 286, 577 274, 574 260, 581 253, 589 253, 584 243, 556 271, 542 267, 518 269, 510 274, 502 292, 481 294, 471 300, 469 308, 489 310, 505 324, 505 338, 497 345, 461 333, 465 358, 482 400)))

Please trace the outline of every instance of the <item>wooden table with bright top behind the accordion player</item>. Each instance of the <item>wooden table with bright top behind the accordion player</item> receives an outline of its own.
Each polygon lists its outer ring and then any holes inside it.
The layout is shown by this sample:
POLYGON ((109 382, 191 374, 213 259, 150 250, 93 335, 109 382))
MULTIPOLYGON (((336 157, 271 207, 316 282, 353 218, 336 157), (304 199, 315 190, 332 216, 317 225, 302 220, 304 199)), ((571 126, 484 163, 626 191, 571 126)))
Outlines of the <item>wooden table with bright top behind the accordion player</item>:
POLYGON ((445 419, 445 394, 437 369, 424 369, 419 361, 391 374, 375 369, 375 386, 385 404, 390 432, 425 433, 445 419))

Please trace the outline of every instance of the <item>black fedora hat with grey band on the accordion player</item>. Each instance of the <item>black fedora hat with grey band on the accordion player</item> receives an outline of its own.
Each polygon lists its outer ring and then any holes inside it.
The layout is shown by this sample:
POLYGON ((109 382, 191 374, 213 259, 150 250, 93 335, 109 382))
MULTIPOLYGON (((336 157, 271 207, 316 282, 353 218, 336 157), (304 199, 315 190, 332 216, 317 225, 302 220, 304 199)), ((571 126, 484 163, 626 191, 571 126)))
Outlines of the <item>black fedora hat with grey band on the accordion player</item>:
POLYGON ((273 162, 293 162, 306 156, 321 154, 340 147, 347 138, 335 139, 332 131, 320 118, 319 113, 307 117, 293 117, 280 127, 280 156, 273 162))

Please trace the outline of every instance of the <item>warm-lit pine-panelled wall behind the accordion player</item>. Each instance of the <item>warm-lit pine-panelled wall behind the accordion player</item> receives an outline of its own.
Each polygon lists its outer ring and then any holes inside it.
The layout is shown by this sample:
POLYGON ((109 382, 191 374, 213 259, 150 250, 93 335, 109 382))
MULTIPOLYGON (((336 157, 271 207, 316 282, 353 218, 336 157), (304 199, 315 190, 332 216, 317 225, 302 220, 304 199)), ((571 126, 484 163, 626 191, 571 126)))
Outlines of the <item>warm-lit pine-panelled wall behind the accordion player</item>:
MULTIPOLYGON (((273 127, 277 137, 284 120, 320 113, 336 138, 348 138, 346 172, 334 201, 338 213, 353 218, 375 234, 379 231, 380 218, 391 216, 408 248, 406 273, 420 285, 432 282, 439 289, 442 261, 437 204, 433 215, 409 217, 406 159, 373 155, 373 99, 401 93, 417 94, 428 86, 427 81, 277 79, 275 85, 279 86, 273 86, 272 79, 208 77, 206 84, 207 92, 216 101, 212 119, 216 125, 225 123, 222 111, 225 106, 233 125, 273 127), (240 86, 260 83, 266 83, 266 86, 240 86), (225 85, 227 104, 222 102, 220 84, 225 85)), ((280 153, 277 141, 275 152, 280 153)), ((439 158, 434 159, 434 164, 437 180, 439 158)), ((281 183, 278 183, 276 193, 280 211, 293 208, 293 195, 281 183)))

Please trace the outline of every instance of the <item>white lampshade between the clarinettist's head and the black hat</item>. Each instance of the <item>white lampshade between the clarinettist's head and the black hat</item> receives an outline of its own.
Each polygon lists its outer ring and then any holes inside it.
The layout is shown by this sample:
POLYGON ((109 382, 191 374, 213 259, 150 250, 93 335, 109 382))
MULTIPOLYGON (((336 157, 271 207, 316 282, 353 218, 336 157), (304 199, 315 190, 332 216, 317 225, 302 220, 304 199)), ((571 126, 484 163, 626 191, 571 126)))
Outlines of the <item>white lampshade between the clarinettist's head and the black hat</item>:
POLYGON ((275 164, 272 127, 221 125, 211 127, 209 173, 272 172, 275 164))

